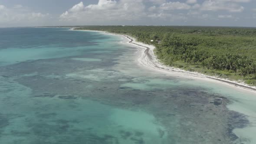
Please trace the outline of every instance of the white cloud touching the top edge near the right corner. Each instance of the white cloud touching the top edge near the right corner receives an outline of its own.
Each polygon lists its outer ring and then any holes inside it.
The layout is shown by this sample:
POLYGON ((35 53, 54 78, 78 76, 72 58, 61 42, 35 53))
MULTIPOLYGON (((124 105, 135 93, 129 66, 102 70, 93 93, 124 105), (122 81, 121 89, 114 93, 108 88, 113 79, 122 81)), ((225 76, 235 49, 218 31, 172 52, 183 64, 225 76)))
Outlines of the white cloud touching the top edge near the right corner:
POLYGON ((236 3, 226 3, 225 1, 241 2, 242 0, 206 0, 202 3, 201 10, 226 10, 231 13, 242 12, 244 10, 243 6, 240 6, 236 3))

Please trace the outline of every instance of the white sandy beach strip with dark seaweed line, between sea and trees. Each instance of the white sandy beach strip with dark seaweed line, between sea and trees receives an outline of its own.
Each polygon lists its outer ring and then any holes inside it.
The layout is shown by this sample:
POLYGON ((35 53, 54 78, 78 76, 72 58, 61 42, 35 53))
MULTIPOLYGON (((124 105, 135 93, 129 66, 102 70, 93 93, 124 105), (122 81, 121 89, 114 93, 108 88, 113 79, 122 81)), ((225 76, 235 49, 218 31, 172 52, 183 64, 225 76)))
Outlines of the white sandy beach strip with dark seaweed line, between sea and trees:
MULTIPOLYGON (((75 30, 75 29, 72 29, 72 30, 75 30)), ((157 57, 154 55, 155 46, 136 42, 135 38, 133 38, 131 36, 116 34, 116 33, 108 33, 105 31, 97 31, 97 30, 79 30, 79 31, 92 31, 92 32, 100 32, 100 33, 111 34, 111 35, 124 36, 126 39, 129 39, 128 44, 143 48, 143 49, 141 49, 141 56, 138 59, 138 62, 141 65, 144 65, 149 69, 158 70, 160 72, 164 72, 169 75, 176 73, 179 76, 181 76, 181 74, 182 74, 182 75, 184 75, 186 77, 190 77, 190 78, 194 77, 197 79, 211 80, 214 82, 224 83, 224 84, 234 86, 237 88, 243 88, 244 90, 249 90, 251 92, 256 92, 256 86, 250 86, 250 85, 246 85, 241 82, 231 81, 228 79, 221 79, 216 76, 204 75, 199 72, 189 72, 189 71, 185 71, 183 69, 178 69, 178 68, 174 68, 171 66, 163 65, 161 62, 159 62, 157 57)))

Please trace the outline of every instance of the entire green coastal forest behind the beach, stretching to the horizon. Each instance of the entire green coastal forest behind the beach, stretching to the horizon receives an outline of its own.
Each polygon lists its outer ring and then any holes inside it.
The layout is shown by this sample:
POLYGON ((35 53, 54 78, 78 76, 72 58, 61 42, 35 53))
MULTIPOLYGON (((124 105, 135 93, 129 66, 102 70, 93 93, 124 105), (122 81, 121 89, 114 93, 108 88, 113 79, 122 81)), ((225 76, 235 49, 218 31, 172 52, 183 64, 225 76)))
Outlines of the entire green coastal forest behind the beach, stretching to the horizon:
POLYGON ((203 26, 79 26, 153 44, 165 65, 256 85, 256 28, 203 26))

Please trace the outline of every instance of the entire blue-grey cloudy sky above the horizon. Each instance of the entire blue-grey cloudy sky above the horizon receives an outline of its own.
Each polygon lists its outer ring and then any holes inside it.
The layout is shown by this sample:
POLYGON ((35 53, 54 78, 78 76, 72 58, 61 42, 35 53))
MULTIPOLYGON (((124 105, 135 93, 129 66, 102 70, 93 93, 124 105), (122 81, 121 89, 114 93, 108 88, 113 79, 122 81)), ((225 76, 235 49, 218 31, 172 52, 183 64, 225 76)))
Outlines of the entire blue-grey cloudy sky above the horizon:
POLYGON ((0 27, 256 27, 256 0, 0 0, 0 27))

